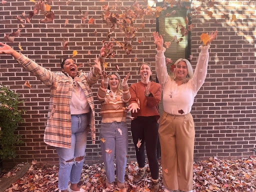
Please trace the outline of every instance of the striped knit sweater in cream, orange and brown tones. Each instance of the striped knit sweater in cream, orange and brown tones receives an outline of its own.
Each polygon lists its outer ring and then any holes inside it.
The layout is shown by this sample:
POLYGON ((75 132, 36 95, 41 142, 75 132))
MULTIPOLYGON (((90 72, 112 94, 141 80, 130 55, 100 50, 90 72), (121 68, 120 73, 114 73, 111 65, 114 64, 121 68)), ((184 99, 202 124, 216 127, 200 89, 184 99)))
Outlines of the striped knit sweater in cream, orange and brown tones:
POLYGON ((130 100, 128 84, 122 85, 122 91, 116 91, 115 93, 105 88, 107 85, 108 82, 102 80, 97 92, 97 98, 101 102, 101 122, 126 121, 125 107, 130 100))

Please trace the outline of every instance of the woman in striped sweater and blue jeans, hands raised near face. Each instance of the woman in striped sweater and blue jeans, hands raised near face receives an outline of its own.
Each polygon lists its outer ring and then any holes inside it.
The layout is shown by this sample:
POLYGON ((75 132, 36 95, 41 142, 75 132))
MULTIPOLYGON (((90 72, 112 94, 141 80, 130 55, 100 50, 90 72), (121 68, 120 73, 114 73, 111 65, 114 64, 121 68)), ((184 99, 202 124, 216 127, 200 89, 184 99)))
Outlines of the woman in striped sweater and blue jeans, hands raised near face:
POLYGON ((128 147, 126 124, 126 103, 130 100, 127 80, 129 73, 122 79, 117 72, 103 73, 103 80, 97 92, 101 102, 100 146, 106 172, 106 187, 114 186, 114 155, 116 157, 117 187, 124 187, 124 174, 128 147))

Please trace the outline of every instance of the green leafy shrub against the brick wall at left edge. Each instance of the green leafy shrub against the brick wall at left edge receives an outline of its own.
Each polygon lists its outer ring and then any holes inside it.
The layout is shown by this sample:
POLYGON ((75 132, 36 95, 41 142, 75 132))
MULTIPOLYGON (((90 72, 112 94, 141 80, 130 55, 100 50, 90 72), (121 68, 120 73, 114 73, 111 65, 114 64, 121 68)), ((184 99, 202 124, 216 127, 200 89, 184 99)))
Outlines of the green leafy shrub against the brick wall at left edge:
POLYGON ((18 123, 23 119, 23 110, 18 109, 20 101, 18 93, 8 86, 0 85, 0 161, 16 156, 15 146, 22 142, 21 135, 15 135, 18 123))

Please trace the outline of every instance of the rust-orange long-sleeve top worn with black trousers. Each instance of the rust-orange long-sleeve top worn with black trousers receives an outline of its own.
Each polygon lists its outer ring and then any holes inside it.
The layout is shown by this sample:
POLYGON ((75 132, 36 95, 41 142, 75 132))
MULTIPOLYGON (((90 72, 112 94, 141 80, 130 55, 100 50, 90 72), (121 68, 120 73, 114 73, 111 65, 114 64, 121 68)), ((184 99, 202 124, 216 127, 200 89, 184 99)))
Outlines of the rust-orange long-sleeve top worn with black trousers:
POLYGON ((156 120, 160 118, 158 112, 158 104, 161 101, 161 85, 159 83, 151 81, 149 92, 152 96, 146 96, 144 93, 145 86, 147 84, 141 81, 131 84, 129 87, 130 101, 139 103, 138 112, 131 112, 131 116, 136 118, 137 116, 156 116, 156 120))

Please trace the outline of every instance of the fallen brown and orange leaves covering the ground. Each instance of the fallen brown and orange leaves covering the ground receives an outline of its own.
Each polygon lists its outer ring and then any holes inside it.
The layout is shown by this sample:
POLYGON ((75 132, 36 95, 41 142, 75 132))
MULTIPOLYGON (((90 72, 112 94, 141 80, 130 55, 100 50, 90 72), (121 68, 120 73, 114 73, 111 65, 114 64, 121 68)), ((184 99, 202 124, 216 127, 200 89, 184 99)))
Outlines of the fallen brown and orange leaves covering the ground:
MULTIPOLYGON (((139 183, 133 184, 132 179, 138 170, 136 162, 126 166, 125 188, 105 188, 104 164, 84 164, 81 174, 80 187, 85 191, 149 191, 150 172, 146 164, 146 176, 139 183)), ((36 167, 32 164, 27 173, 18 179, 7 191, 58 191, 58 167, 36 167)), ((5 177, 15 174, 15 170, 6 173, 5 177)), ((194 162, 193 191, 256 191, 256 157, 237 160, 218 159, 194 162)), ((159 162, 160 190, 163 191, 161 164, 159 162)))

